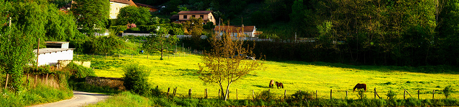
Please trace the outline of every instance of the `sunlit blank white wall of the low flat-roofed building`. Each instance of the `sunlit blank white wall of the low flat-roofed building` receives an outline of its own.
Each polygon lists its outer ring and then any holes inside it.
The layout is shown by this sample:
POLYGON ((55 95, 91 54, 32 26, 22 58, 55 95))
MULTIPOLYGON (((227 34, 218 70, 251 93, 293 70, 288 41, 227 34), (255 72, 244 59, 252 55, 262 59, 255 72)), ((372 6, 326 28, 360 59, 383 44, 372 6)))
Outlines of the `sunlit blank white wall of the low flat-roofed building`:
POLYGON ((38 65, 56 65, 59 60, 73 60, 73 50, 38 55, 38 65))

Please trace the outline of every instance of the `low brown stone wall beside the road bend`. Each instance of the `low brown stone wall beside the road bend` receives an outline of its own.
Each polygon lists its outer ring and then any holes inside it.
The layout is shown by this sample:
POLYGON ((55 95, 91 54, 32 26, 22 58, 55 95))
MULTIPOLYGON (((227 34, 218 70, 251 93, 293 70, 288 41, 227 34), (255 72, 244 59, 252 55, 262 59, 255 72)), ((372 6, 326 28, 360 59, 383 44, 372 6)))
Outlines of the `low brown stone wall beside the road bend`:
POLYGON ((98 77, 98 76, 86 76, 86 83, 95 86, 108 86, 113 89, 125 90, 123 86, 123 79, 116 77, 98 77))

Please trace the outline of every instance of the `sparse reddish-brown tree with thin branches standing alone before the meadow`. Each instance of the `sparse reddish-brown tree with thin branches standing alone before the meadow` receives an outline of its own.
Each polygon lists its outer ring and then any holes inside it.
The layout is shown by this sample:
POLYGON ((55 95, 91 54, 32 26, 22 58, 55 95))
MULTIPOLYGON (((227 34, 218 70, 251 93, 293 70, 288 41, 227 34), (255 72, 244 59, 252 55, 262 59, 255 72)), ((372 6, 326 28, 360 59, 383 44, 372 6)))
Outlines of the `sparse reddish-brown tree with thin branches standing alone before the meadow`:
POLYGON ((205 51, 201 57, 204 65, 198 63, 200 70, 197 74, 204 82, 218 84, 222 90, 221 98, 226 101, 231 83, 260 70, 263 63, 246 56, 253 56, 253 47, 244 47, 242 39, 231 37, 230 33, 212 36, 209 42, 211 50, 205 51))

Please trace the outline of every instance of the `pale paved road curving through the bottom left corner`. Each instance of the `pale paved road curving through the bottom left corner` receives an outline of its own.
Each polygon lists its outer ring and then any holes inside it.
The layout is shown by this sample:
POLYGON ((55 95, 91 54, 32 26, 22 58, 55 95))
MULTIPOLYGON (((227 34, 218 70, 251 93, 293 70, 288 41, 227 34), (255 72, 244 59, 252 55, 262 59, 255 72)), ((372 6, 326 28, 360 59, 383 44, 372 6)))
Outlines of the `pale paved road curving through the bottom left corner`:
POLYGON ((30 107, 82 107, 106 99, 109 95, 73 91, 73 98, 54 103, 34 105, 30 107))

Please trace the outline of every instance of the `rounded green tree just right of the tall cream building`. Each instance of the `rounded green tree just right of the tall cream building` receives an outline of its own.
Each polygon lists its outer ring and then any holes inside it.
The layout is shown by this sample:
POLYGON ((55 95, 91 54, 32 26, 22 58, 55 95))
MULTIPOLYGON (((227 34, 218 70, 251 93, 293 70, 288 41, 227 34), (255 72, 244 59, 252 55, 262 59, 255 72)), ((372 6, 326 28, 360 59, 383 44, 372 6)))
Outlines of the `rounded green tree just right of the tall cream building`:
POLYGON ((126 25, 135 23, 136 25, 145 25, 148 23, 151 15, 148 8, 126 6, 120 9, 120 13, 116 16, 118 25, 126 25))

